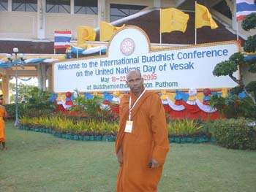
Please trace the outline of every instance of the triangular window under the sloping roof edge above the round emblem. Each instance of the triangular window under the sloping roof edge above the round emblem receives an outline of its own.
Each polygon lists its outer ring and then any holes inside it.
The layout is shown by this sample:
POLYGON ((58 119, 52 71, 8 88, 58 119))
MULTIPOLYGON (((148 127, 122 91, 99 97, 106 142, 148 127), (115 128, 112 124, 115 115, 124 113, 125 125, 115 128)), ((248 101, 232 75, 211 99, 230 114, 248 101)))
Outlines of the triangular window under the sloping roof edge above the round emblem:
POLYGON ((145 7, 129 4, 110 4, 110 22, 133 15, 145 7))

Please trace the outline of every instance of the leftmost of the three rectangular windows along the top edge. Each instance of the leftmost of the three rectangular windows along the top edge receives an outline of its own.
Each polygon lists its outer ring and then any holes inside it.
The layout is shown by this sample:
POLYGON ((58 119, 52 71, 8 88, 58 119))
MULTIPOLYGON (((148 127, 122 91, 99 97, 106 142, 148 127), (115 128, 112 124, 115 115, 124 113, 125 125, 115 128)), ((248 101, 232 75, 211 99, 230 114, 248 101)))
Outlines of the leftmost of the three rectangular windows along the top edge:
POLYGON ((37 0, 12 0, 14 12, 37 12, 37 0))

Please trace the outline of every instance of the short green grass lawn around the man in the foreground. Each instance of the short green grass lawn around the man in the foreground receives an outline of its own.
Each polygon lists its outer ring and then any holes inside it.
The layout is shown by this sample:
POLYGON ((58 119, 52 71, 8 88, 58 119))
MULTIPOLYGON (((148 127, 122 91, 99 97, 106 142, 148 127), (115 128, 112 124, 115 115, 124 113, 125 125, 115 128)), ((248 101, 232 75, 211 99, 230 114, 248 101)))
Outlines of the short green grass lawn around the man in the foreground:
MULTIPOLYGON (((6 123, 7 150, 0 151, 0 191, 115 191, 114 142, 59 139, 13 124, 6 123)), ((171 144, 158 191, 255 191, 255 159, 256 151, 171 144)))

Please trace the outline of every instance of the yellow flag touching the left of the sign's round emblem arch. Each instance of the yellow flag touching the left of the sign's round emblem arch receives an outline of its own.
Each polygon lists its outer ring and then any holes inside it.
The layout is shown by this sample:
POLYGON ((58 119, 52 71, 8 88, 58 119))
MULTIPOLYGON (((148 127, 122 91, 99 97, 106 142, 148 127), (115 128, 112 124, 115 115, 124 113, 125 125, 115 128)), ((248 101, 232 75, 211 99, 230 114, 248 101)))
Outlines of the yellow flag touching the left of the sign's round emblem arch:
POLYGON ((99 26, 99 41, 105 42, 109 41, 113 34, 116 33, 121 28, 124 28, 125 24, 121 27, 112 26, 110 23, 106 23, 104 21, 100 22, 99 26))

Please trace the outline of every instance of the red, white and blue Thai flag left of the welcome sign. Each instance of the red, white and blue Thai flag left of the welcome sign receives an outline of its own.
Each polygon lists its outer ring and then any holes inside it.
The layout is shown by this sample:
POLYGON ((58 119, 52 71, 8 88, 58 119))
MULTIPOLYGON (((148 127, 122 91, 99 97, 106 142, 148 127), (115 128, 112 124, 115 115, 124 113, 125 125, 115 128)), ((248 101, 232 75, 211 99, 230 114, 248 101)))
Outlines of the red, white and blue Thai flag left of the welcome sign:
POLYGON ((54 31, 54 49, 70 47, 71 31, 54 31))

